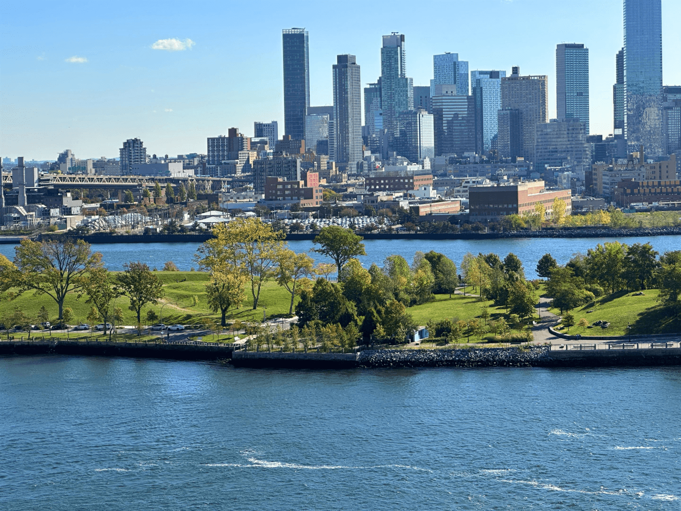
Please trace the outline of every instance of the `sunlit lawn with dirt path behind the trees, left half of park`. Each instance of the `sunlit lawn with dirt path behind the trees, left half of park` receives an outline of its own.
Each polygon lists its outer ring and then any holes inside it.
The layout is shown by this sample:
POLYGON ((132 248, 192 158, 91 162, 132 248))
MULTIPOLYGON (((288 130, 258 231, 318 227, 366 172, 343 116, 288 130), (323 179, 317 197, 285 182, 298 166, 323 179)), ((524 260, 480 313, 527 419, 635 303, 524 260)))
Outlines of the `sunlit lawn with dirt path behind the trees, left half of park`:
MULTIPOLYGON (((115 272, 112 272, 115 273, 115 272)), ((219 320, 219 313, 212 313, 208 308, 205 284, 208 281, 208 273, 205 272, 167 272, 155 273, 163 281, 165 296, 159 300, 157 305, 146 305, 142 309, 142 324, 147 324, 146 312, 153 309, 159 317, 163 313, 163 323, 165 324, 196 324, 202 318, 208 316, 214 320, 219 320), (197 296, 199 303, 192 305, 193 296, 197 296), (164 304, 167 304, 164 306, 164 304), (163 311, 161 311, 163 307, 163 311)), ((285 288, 282 288, 274 281, 267 281, 260 291, 260 299, 257 311, 253 311, 253 296, 251 295, 250 282, 245 286, 246 300, 240 309, 230 311, 228 318, 238 318, 240 320, 259 320, 262 321, 263 311, 266 308, 267 317, 272 315, 288 315, 291 295, 285 288)), ((85 303, 86 296, 78 300, 76 293, 69 293, 64 300, 64 307, 71 307, 74 311, 73 323, 87 322, 91 305, 85 303)), ((296 302, 298 303, 298 296, 296 302)), ((294 307, 295 307, 294 303, 294 307)), ((18 298, 8 301, 0 300, 0 318, 2 315, 18 307, 29 317, 37 318, 40 307, 45 306, 50 313, 50 321, 54 322, 57 318, 57 303, 50 296, 43 294, 35 296, 32 291, 25 292, 18 298)), ((116 298, 116 307, 123 310, 123 324, 137 324, 137 316, 134 311, 128 309, 130 300, 127 296, 116 298)), ((36 320, 37 322, 37 320, 36 320)))

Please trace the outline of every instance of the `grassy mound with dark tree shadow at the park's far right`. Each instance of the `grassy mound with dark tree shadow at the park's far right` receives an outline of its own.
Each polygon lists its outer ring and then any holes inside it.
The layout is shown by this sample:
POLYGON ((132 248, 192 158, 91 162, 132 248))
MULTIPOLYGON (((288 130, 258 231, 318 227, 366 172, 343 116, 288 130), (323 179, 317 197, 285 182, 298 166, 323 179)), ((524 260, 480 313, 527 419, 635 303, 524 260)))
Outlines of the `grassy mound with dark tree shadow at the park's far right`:
MULTIPOLYGON (((574 309, 575 323, 586 318, 589 323, 605 320, 609 328, 570 328, 571 333, 584 335, 627 335, 627 324, 631 323, 632 335, 681 332, 681 318, 669 313, 667 307, 657 301, 659 290, 644 290, 643 296, 634 293, 617 292, 603 296, 584 307, 574 309), (593 311, 586 313, 586 311, 593 311)), ((558 314, 555 309, 552 312, 558 314)))

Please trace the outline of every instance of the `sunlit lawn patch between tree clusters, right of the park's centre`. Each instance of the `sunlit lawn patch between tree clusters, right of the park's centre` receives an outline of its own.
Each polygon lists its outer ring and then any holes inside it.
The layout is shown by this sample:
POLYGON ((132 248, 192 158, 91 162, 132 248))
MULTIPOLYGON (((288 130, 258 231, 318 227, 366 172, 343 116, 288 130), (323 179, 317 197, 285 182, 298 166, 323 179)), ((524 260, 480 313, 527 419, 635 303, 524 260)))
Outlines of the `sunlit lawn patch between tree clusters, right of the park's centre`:
POLYGON ((434 300, 409 307, 407 312, 418 324, 425 325, 428 320, 440 321, 445 318, 468 321, 479 317, 481 307, 490 309, 490 319, 501 317, 506 312, 504 307, 494 307, 491 300, 480 300, 477 296, 460 294, 453 294, 452 298, 449 298, 448 294, 436 294, 434 300))

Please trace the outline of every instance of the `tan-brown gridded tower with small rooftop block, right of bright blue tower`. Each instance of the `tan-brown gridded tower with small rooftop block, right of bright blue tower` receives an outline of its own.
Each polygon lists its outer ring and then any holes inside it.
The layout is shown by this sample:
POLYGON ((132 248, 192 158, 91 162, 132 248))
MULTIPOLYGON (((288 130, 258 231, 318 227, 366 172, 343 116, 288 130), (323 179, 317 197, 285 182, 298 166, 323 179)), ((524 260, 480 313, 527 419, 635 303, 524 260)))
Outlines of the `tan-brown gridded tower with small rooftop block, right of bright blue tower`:
POLYGON ((513 66, 511 76, 501 78, 501 108, 520 110, 520 155, 530 161, 535 152, 535 125, 547 121, 548 76, 520 76, 513 66))

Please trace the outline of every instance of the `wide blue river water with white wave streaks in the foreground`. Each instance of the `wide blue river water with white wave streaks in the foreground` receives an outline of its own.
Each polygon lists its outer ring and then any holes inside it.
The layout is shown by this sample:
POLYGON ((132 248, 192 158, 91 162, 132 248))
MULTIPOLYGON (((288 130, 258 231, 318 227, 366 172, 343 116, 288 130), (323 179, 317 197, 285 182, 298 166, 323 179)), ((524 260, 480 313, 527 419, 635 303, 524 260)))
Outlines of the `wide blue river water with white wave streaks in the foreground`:
POLYGON ((0 357, 2 510, 678 510, 681 369, 0 357))

